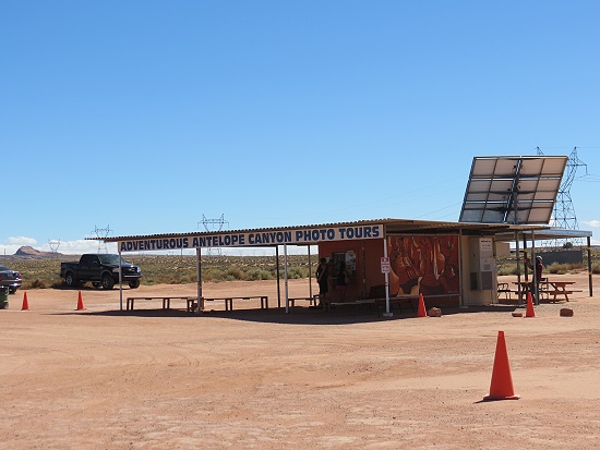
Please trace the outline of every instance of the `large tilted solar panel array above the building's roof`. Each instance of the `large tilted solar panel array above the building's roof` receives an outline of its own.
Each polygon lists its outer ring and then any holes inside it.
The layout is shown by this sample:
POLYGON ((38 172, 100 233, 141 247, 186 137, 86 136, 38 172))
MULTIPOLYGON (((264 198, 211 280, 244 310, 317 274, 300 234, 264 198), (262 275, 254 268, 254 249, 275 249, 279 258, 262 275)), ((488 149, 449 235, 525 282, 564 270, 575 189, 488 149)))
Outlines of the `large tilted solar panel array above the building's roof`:
POLYGON ((548 224, 566 156, 475 157, 460 222, 548 224))

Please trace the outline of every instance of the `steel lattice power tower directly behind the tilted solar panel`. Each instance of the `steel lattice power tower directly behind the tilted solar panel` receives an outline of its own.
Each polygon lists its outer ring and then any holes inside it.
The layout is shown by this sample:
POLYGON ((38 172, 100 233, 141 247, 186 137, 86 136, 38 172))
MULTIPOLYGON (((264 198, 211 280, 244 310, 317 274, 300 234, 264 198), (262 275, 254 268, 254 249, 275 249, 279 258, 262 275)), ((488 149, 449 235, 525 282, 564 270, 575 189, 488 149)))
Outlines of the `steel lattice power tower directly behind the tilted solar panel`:
MULTIPOLYGON (((540 147, 538 155, 543 155, 540 147)), ((575 180, 577 169, 584 166, 587 173, 587 165, 577 156, 577 147, 574 147, 568 156, 566 163, 566 174, 563 175, 561 187, 559 187, 559 194, 556 195, 556 202, 554 203, 554 219, 553 227, 563 228, 565 230, 579 230, 579 223, 577 222, 577 215, 575 214, 575 206, 573 206, 573 198, 571 198, 571 186, 575 180)), ((581 238, 575 239, 556 239, 552 241, 550 246, 554 250, 561 250, 568 246, 581 246, 584 242, 581 238)))

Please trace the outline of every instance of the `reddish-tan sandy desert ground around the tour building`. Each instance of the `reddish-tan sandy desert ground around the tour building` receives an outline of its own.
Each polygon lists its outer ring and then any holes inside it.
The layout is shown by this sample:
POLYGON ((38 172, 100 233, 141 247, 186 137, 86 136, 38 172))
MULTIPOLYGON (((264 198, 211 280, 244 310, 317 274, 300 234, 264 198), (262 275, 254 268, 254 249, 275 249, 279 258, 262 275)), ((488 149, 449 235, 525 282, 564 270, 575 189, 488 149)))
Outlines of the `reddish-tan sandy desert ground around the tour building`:
MULTIPOLYGON (((600 448, 600 277, 592 297, 587 275, 560 278, 583 292, 528 318, 517 306, 286 314, 275 281, 204 284, 205 296, 271 306, 214 302, 205 314, 183 301, 120 311, 119 290, 92 288, 85 309, 77 290, 44 289, 22 311, 19 291, 0 311, 0 449, 600 448), (499 331, 520 399, 484 402, 499 331)), ((308 281, 289 292, 308 295, 308 281)))

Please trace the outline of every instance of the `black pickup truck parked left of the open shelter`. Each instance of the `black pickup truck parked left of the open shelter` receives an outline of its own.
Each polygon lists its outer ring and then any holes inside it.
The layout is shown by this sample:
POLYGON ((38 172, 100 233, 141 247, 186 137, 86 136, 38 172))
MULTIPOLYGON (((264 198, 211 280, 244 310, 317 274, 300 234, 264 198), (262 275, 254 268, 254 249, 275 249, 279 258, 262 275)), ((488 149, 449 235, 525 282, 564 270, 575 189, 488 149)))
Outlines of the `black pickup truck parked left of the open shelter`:
MULTIPOLYGON (((129 283, 131 289, 140 287, 140 267, 121 258, 121 271, 123 282, 129 283)), ((89 281, 94 288, 112 289, 119 283, 119 255, 85 254, 79 263, 61 263, 60 277, 69 288, 89 281)))

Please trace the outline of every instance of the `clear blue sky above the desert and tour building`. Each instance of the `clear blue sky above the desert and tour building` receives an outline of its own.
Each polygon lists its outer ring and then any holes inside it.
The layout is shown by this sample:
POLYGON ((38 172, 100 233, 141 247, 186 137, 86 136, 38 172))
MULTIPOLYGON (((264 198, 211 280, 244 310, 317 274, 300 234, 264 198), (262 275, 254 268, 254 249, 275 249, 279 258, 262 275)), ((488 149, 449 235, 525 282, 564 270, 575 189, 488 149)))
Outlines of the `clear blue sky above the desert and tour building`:
POLYGON ((598 1, 1 1, 0 252, 458 220, 472 158, 569 155, 600 243, 598 1), (202 223, 201 231, 204 231, 202 223))

